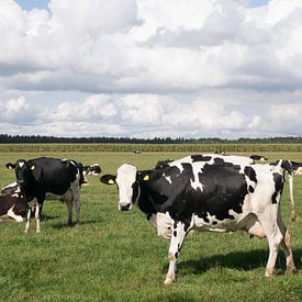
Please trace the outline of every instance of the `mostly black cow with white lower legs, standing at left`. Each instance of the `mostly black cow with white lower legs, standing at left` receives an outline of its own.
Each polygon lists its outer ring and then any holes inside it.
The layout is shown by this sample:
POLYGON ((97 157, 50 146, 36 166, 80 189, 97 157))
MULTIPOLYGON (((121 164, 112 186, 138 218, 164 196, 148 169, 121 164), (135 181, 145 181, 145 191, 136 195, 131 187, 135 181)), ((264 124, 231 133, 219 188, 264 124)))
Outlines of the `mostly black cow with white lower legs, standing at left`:
MULTIPOLYGON (((82 181, 82 165, 68 159, 40 157, 30 160, 19 159, 15 164, 7 164, 14 169, 18 191, 30 203, 36 199, 36 233, 41 232, 40 208, 43 206, 46 193, 53 193, 65 200, 68 210, 67 224, 72 223, 72 203, 77 214, 77 225, 80 219, 80 184, 82 181)), ((27 211, 25 233, 30 230, 31 211, 27 211)))

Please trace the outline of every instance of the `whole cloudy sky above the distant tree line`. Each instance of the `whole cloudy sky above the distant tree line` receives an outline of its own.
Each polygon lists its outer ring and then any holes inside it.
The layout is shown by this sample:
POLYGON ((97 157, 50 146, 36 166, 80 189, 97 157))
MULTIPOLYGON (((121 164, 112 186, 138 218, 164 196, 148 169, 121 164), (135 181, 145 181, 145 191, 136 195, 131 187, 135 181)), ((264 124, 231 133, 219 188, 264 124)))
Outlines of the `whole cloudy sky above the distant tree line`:
POLYGON ((301 0, 0 0, 0 133, 302 135, 301 0))

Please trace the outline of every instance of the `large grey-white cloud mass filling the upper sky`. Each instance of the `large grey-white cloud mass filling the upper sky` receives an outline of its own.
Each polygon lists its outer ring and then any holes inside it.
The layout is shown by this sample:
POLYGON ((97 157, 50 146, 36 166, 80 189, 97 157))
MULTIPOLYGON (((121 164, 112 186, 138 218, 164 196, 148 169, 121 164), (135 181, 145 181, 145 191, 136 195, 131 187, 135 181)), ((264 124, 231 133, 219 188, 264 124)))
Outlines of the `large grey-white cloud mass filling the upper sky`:
POLYGON ((301 83, 299 1, 249 9, 232 0, 52 0, 52 14, 1 5, 7 88, 163 93, 301 83))

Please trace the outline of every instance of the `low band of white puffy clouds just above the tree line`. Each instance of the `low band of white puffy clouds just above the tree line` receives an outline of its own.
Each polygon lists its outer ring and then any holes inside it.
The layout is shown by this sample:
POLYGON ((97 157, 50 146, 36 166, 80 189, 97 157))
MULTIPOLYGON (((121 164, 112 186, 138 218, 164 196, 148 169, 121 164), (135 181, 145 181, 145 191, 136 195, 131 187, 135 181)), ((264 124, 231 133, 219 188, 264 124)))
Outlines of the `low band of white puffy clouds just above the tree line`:
MULTIPOLYGON (((224 96, 225 97, 225 96, 224 96)), ((24 97, 0 102, 2 131, 10 134, 56 136, 136 136, 236 138, 241 134, 297 134, 302 108, 266 105, 265 116, 244 111, 236 103, 223 104, 208 97, 191 96, 183 102, 177 96, 91 94, 71 102, 63 100, 55 108, 36 107, 24 97), (9 123, 13 124, 9 127, 9 123), (19 128, 19 130, 18 130, 19 128)))

